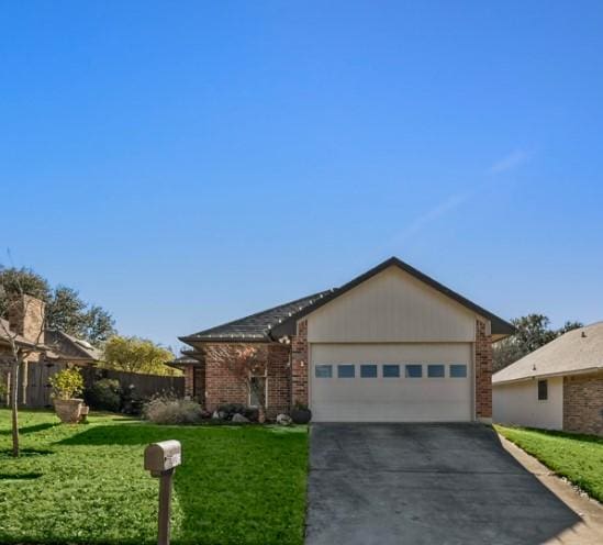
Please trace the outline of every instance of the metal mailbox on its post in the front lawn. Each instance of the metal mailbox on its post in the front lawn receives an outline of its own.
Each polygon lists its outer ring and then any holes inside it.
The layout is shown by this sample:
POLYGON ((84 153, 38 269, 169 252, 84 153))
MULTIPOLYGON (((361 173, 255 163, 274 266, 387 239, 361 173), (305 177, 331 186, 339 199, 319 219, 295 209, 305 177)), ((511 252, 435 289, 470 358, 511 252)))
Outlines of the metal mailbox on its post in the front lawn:
POLYGON ((159 532, 158 545, 169 545, 169 519, 171 511, 171 479, 177 466, 182 463, 179 441, 153 443, 145 448, 145 469, 159 477, 159 532))

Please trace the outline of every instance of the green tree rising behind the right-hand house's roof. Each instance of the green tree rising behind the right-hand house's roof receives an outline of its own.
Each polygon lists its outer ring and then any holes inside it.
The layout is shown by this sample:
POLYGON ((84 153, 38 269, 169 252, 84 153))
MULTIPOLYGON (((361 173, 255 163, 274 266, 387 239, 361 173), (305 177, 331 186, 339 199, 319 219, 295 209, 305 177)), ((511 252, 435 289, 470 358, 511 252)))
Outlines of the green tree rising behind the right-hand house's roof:
POLYGON ((528 314, 511 320, 511 323, 515 326, 515 334, 494 344, 494 371, 517 362, 517 359, 550 343, 563 333, 583 326, 581 322, 568 321, 562 327, 551 330, 549 326, 550 320, 544 314, 528 314))

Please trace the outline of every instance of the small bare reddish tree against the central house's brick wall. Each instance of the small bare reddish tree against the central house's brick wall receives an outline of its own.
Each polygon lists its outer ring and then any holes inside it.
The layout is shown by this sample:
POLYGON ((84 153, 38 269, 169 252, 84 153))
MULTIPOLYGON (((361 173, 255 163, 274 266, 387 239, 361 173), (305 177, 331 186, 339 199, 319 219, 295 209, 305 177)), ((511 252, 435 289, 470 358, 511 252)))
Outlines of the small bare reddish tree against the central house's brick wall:
POLYGON ((214 345, 210 348, 212 359, 226 367, 258 404, 258 420, 266 421, 267 354, 264 347, 248 345, 214 345))

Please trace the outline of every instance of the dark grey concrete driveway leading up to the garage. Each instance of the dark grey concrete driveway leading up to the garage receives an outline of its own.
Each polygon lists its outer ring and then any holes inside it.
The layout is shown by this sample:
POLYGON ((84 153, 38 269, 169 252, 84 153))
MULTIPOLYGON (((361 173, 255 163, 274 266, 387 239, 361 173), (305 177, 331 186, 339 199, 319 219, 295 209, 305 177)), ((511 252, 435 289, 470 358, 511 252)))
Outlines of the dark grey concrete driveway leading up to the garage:
POLYGON ((479 424, 314 424, 306 545, 540 544, 580 521, 479 424))

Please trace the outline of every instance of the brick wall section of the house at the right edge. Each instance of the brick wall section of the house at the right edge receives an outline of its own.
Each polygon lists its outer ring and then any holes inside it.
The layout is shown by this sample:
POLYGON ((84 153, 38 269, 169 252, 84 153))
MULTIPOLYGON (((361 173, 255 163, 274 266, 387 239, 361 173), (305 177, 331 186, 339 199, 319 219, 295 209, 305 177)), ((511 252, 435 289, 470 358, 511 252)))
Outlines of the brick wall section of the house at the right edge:
POLYGON ((603 435, 603 374, 563 378, 563 431, 603 435))

